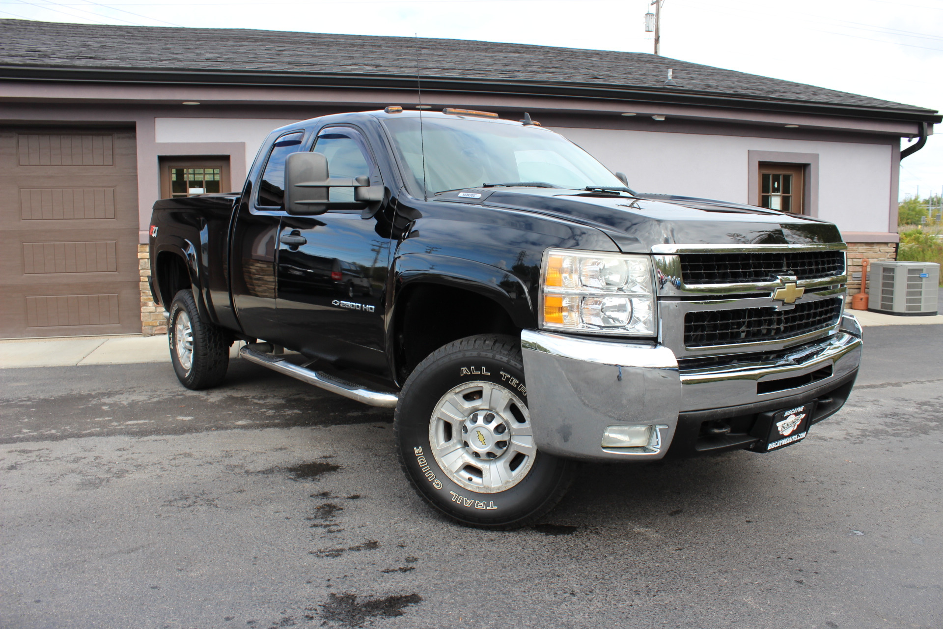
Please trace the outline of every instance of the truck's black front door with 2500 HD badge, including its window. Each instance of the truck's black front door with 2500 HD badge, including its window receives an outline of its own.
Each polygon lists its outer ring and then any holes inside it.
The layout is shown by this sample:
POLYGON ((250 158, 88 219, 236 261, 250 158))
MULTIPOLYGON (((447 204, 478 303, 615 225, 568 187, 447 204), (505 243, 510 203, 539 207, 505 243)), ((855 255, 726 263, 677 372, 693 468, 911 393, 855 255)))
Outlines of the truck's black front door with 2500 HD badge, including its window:
MULTIPOLYGON (((324 128, 312 151, 327 157, 331 177, 367 175, 372 186, 383 185, 370 145, 352 126, 324 128)), ((354 189, 331 189, 330 200, 353 201, 354 189)), ((389 212, 381 207, 369 219, 359 209, 282 218, 278 318, 296 349, 341 366, 386 371, 389 212)))

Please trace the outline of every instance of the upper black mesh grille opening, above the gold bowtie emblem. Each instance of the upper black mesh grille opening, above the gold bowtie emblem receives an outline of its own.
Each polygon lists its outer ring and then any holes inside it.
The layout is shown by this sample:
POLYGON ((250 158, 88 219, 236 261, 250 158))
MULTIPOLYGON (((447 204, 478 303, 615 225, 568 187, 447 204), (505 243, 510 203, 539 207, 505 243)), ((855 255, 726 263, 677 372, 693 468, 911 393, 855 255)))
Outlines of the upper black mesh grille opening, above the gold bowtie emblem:
POLYGON ((769 282, 774 281, 777 275, 818 279, 844 273, 845 256, 841 251, 681 256, 681 276, 687 285, 769 282))

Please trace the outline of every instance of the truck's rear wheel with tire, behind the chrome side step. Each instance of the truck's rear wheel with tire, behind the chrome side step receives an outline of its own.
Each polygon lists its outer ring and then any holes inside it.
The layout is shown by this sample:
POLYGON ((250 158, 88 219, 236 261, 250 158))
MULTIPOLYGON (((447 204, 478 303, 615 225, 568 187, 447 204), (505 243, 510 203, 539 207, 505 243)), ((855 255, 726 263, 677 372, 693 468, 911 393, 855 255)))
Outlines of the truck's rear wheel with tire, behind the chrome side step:
POLYGON ((190 290, 174 295, 167 340, 174 372, 184 387, 208 389, 223 382, 232 338, 223 328, 203 320, 190 290))

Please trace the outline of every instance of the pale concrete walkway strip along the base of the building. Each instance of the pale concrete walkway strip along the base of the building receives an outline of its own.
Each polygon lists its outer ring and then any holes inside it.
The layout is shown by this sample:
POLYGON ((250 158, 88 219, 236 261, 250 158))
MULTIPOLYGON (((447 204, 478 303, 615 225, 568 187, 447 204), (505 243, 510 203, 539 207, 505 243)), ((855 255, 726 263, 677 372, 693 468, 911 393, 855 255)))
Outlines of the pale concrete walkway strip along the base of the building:
MULTIPOLYGON (((849 310, 849 312, 858 318, 863 327, 943 323, 943 315, 894 317, 867 310, 849 310)), ((235 358, 239 355, 239 346, 240 343, 233 343, 230 357, 235 358)), ((166 335, 0 340, 0 369, 170 361, 171 355, 167 347, 166 335)))

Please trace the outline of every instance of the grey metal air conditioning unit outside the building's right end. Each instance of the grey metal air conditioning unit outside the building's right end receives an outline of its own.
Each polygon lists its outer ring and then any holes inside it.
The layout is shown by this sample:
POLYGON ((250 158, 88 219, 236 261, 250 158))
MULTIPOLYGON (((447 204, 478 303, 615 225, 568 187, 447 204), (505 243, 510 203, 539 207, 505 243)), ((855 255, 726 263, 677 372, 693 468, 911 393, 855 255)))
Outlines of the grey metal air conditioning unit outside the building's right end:
POLYGON ((938 309, 936 262, 870 263, 868 309, 901 317, 930 317, 938 309))

